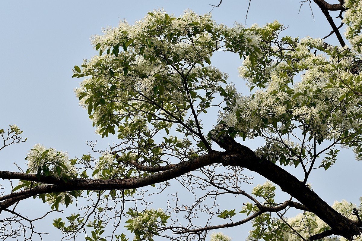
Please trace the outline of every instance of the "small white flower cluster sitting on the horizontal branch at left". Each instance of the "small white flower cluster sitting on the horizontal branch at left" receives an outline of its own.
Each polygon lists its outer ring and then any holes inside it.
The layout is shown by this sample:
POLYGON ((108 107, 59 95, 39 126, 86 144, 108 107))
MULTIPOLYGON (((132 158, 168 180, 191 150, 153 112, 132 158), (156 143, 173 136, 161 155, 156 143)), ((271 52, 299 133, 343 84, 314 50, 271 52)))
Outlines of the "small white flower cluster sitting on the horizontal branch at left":
POLYGON ((29 151, 26 156, 28 160, 28 169, 30 173, 37 174, 39 168, 49 168, 51 176, 56 178, 63 177, 65 175, 77 175, 76 168, 71 165, 67 152, 56 151, 55 149, 46 149, 43 145, 37 144, 29 151), (66 166, 67 169, 63 168, 66 166), (60 173, 56 170, 60 169, 60 173))

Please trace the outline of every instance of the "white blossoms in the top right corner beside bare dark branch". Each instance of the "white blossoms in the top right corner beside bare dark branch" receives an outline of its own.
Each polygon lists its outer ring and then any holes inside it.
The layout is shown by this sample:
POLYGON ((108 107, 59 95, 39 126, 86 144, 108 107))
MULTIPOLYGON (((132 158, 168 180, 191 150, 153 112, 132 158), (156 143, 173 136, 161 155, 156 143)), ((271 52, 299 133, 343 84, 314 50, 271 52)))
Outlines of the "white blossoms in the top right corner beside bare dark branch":
POLYGON ((343 22, 348 26, 345 31, 353 49, 361 53, 362 48, 362 2, 360 0, 346 0, 344 7, 347 9, 343 22))

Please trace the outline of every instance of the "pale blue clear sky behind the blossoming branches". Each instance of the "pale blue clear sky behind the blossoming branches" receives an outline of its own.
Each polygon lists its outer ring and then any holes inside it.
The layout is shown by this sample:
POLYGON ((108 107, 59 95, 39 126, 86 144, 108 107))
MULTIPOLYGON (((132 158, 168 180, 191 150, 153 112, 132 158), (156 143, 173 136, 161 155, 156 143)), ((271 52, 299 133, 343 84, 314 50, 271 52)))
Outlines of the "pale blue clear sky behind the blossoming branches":
MULTIPOLYGON (((97 54, 89 41, 91 35, 101 34, 103 27, 117 26, 123 19, 129 23, 140 20, 153 9, 164 8, 175 16, 185 9, 203 14, 212 9, 209 4, 218 3, 219 0, 1 1, 0 129, 16 124, 28 137, 25 143, 1 150, 1 170, 18 171, 13 163, 26 169, 24 158, 36 143, 67 151, 72 158, 90 151, 86 141, 98 140, 102 149, 113 140, 101 139, 94 133, 87 111, 79 107, 73 92, 81 79, 72 78, 71 69, 81 65, 84 58, 97 54)), ((308 5, 300 12, 299 8, 299 0, 252 0, 245 19, 247 0, 224 0, 212 10, 212 16, 217 23, 228 26, 235 21, 251 26, 278 20, 288 27, 286 34, 301 38, 329 34, 331 27, 316 6, 312 5, 314 21, 308 5)), ((334 36, 326 42, 337 44, 334 36)), ((229 73, 232 82, 244 85, 237 76, 237 67, 241 65, 238 56, 217 55, 212 62, 229 73)), ((260 143, 247 145, 256 149, 260 143)), ((328 172, 316 171, 310 181, 316 193, 329 204, 342 199, 358 203, 355 184, 361 165, 354 160, 352 151, 342 150, 338 162, 328 172)), ((226 233, 234 240, 243 240, 247 231, 248 228, 240 227, 226 233)))

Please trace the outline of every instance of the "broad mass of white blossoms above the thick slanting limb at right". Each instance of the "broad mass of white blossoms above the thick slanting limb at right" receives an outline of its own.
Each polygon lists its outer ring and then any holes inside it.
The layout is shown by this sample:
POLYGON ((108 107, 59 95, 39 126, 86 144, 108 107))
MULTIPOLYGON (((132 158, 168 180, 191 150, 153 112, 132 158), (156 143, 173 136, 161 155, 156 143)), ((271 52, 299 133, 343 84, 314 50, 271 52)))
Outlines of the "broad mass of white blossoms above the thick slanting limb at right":
MULTIPOLYGON (((358 105, 361 98, 356 96, 340 101, 347 88, 327 88, 330 79, 340 79, 341 82, 353 79, 352 74, 345 70, 352 63, 351 56, 344 48, 336 50, 336 55, 346 53, 345 57, 340 58, 342 60, 338 60, 341 67, 336 69, 337 57, 331 56, 327 59, 326 56, 315 56, 311 53, 310 46, 321 44, 321 39, 308 37, 298 44, 295 51, 288 53, 293 54, 295 65, 303 66, 304 74, 300 82, 296 82, 293 75, 286 74, 286 70, 291 69, 290 63, 280 62, 275 65, 272 61, 269 67, 265 67, 270 78, 265 84, 266 87, 258 89, 250 96, 234 94, 235 102, 230 104, 229 110, 220 113, 219 120, 247 134, 248 138, 254 138, 255 133, 264 130, 268 132, 273 122, 277 122, 278 126, 290 121, 299 122, 302 124, 300 127, 303 126, 303 132, 309 132, 317 139, 330 139, 336 133, 359 128, 362 120, 346 118, 346 113, 358 116, 362 112, 358 105)), ((248 75, 251 69, 250 59, 247 57, 243 64, 244 66, 239 68, 239 74, 254 86, 252 77, 248 75)), ((265 74, 266 70, 263 71, 265 74)), ((354 86, 361 85, 357 83, 358 79, 355 82, 354 86)))

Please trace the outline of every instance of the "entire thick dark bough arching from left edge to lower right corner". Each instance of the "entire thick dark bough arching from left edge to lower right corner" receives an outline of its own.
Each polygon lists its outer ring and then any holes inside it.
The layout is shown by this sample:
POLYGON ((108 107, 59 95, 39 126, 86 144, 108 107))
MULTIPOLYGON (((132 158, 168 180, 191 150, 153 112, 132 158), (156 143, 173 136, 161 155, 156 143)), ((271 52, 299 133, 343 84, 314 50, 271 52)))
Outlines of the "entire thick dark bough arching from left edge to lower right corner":
MULTIPOLYGON (((278 165, 271 162, 262 161, 258 158, 252 150, 248 147, 243 146, 229 136, 223 137, 222 140, 215 140, 225 152, 213 151, 209 154, 200 156, 194 160, 182 162, 176 164, 174 167, 154 173, 146 177, 138 178, 124 178, 117 180, 92 180, 92 179, 71 179, 67 183, 62 180, 56 180, 52 177, 41 177, 39 180, 35 175, 18 173, 18 172, 7 172, 1 171, 0 178, 6 179, 21 179, 28 181, 43 182, 50 185, 39 185, 35 186, 31 190, 18 191, 4 195, 0 200, 4 200, 0 203, 0 210, 4 210, 9 206, 13 205, 17 201, 25 198, 32 197, 41 193, 55 193, 64 192, 71 190, 112 190, 112 189, 132 189, 151 184, 164 182, 171 180, 178 176, 181 176, 187 172, 194 171, 201 167, 205 167, 214 163, 222 163, 225 166, 239 166, 247 168, 251 171, 257 172, 260 175, 268 178, 270 181, 279 185, 283 191, 292 195, 300 203, 286 201, 282 205, 277 206, 278 208, 285 208, 287 206, 295 206, 302 210, 308 210, 315 213, 323 221, 325 221, 333 230, 333 234, 341 235, 344 237, 352 237, 360 232, 358 223, 353 222, 339 214, 326 202, 324 202, 316 193, 300 182, 296 177, 292 176, 289 172, 285 171, 278 165)), ((277 207, 269 210, 268 207, 261 207, 261 212, 269 212, 278 210, 277 207)), ((232 227, 239 225, 251 220, 253 217, 250 216, 247 219, 241 220, 233 224, 225 224, 225 227, 232 227)), ((219 226, 205 227, 207 229, 220 228, 219 226)), ((205 229, 206 230, 206 229, 205 229)), ((191 232, 198 232, 200 230, 194 230, 191 232)))

